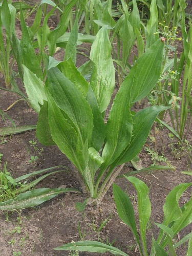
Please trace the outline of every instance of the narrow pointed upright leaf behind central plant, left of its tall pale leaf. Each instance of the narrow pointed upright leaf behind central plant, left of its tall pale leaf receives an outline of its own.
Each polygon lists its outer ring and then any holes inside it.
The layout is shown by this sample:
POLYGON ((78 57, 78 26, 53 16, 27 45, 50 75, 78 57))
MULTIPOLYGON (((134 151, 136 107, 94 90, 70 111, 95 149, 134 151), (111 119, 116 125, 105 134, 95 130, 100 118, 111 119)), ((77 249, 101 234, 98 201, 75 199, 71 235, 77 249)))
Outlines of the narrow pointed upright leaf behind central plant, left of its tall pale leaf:
POLYGON ((74 65, 76 63, 77 55, 77 40, 78 40, 78 15, 75 18, 69 40, 67 42, 64 60, 72 59, 74 65))

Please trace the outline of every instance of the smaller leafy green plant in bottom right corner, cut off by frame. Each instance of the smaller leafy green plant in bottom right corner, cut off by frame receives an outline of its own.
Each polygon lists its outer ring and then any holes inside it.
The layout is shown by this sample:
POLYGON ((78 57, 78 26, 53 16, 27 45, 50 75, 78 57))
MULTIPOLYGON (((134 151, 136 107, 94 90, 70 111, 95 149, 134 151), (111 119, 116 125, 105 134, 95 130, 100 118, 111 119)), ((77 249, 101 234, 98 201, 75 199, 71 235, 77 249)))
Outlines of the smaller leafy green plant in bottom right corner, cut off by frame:
MULTIPOLYGON (((146 244, 147 225, 151 216, 151 203, 148 197, 148 187, 144 182, 135 177, 126 177, 137 190, 138 195, 138 213, 139 213, 139 232, 136 226, 136 219, 134 208, 132 206, 129 195, 127 195, 119 186, 113 184, 113 193, 115 203, 120 219, 131 228, 138 245, 140 255, 177 255, 176 249, 180 245, 188 241, 188 248, 185 255, 191 254, 192 233, 186 234, 179 242, 174 243, 174 238, 177 233, 191 223, 191 208, 192 198, 189 199, 183 206, 179 206, 179 199, 184 191, 192 185, 192 183, 183 183, 176 186, 165 199, 163 206, 164 219, 163 222, 155 223, 160 228, 157 240, 152 238, 151 252, 148 252, 148 245, 146 244), (139 236, 140 234, 140 236, 139 236), (165 247, 168 246, 168 250, 165 247)), ((78 251, 90 252, 106 252, 112 254, 128 255, 119 249, 105 245, 95 241, 80 241, 69 243, 66 245, 54 248, 55 250, 72 250, 76 248, 78 251)))

